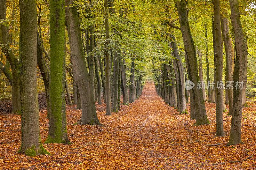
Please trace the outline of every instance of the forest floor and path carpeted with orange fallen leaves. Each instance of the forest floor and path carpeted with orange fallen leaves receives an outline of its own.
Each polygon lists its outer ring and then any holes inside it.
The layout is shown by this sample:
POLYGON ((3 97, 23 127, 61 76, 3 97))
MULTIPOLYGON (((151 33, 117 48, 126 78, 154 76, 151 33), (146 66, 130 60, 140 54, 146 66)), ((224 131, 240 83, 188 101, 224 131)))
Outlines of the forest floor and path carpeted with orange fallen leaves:
MULTIPOLYGON (((205 105, 211 124, 194 126, 189 114, 179 115, 165 104, 149 82, 140 98, 122 105, 119 113, 105 116, 106 105, 97 105, 102 126, 71 126, 79 120, 81 110, 67 106, 68 138, 73 144, 43 144, 52 155, 36 157, 16 152, 20 116, 0 113, 0 129, 4 130, 0 132, 0 169, 255 169, 256 104, 244 108, 244 144, 236 146, 205 146, 228 142, 231 124, 231 116, 224 113, 226 136, 215 137, 215 104, 205 105)), ((48 133, 46 114, 40 110, 42 142, 48 133)))

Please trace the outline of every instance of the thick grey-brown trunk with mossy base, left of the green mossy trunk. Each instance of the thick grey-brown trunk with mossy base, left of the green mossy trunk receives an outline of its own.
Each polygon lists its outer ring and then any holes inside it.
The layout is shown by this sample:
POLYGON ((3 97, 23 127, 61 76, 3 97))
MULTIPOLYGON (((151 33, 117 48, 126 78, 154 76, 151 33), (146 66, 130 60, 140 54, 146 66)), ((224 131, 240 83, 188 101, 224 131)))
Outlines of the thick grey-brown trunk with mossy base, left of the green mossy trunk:
MULTIPOLYGON (((48 154, 41 142, 36 84, 36 1, 20 0, 20 101, 21 144, 18 153, 48 154), (28 29, 29 28, 29 29, 28 29)), ((2 7, 2 6, 1 6, 2 7)))

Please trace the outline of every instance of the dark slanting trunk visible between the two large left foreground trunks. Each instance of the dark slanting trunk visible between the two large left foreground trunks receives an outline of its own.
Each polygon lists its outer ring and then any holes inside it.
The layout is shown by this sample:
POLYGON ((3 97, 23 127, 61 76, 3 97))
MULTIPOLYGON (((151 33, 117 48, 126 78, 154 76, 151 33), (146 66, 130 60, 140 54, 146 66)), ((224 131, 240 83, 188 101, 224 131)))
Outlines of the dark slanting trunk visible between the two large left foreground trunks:
POLYGON ((36 42, 36 59, 37 66, 41 72, 41 75, 44 80, 44 89, 46 96, 46 105, 47 105, 47 118, 49 118, 49 84, 50 84, 50 73, 46 67, 43 55, 42 39, 40 34, 37 32, 37 42, 36 42))

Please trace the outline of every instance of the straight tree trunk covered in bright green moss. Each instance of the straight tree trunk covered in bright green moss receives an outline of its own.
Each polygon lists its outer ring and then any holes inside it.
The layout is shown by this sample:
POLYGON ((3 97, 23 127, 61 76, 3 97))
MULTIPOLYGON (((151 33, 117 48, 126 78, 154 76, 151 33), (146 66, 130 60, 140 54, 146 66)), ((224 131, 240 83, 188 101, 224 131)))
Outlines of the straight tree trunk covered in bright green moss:
POLYGON ((49 131, 45 143, 71 144, 68 140, 65 101, 65 6, 64 0, 50 2, 50 88, 49 131))

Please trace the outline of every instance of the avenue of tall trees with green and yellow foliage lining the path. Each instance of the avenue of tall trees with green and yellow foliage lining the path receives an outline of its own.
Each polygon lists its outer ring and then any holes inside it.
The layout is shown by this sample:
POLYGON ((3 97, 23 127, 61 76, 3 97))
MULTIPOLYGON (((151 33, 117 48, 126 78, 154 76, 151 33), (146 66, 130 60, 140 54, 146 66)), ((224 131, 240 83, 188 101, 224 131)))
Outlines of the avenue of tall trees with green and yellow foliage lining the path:
POLYGON ((38 89, 47 102, 45 143, 70 144, 65 94, 82 111, 74 125, 96 125, 95 102, 106 103, 106 115, 118 113, 121 104, 140 97, 146 78, 154 79, 158 95, 180 114, 188 114, 190 100, 196 126, 209 124, 205 101, 216 103, 216 136, 225 136, 228 114, 228 145, 242 143, 242 108, 248 107, 246 94, 255 95, 254 4, 0 0, 1 97, 8 97, 10 87, 12 112, 21 115, 18 152, 50 154, 40 138, 38 89), (187 80, 195 87, 187 90, 187 80), (220 82, 235 83, 223 90, 220 82), (236 88, 236 82, 243 86, 236 88))

